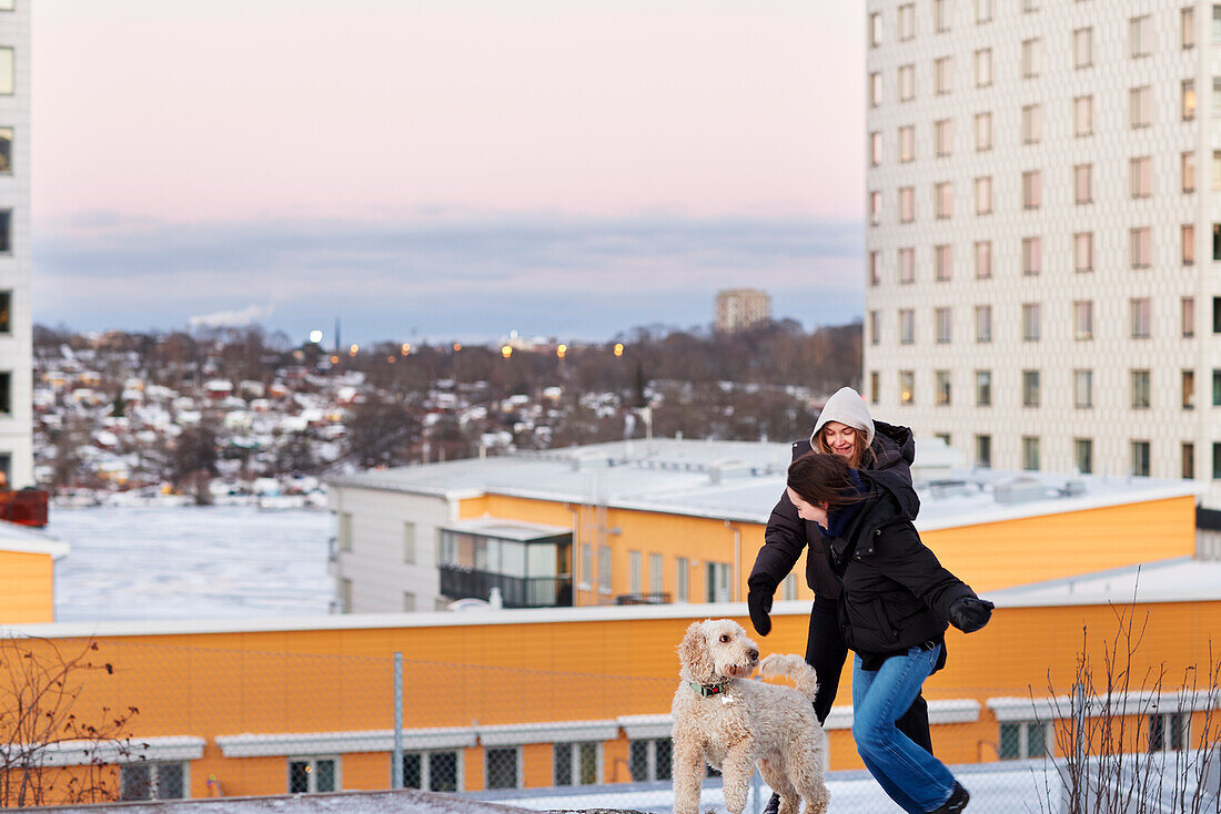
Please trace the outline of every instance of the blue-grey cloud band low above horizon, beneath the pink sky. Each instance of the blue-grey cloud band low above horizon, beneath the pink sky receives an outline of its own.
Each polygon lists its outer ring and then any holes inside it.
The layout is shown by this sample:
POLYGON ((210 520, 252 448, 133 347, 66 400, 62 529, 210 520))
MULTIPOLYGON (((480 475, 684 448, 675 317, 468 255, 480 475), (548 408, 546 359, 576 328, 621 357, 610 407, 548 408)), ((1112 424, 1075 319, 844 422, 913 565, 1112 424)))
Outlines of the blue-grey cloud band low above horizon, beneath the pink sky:
POLYGON ((751 286, 773 294, 775 315, 819 325, 860 316, 862 258, 857 221, 416 212, 175 223, 93 212, 35 232, 34 316, 144 328, 250 315, 292 333, 342 314, 358 340, 508 328, 597 338, 708 323, 717 290, 751 286))

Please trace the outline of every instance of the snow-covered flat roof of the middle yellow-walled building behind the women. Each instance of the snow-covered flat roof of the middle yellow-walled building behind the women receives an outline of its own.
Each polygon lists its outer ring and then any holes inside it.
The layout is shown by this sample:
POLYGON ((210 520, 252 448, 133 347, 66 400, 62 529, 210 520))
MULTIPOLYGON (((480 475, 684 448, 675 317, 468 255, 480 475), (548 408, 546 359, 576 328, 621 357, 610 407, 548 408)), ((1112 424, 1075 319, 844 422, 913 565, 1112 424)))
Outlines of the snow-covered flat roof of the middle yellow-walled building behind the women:
MULTIPOLYGON (((932 441, 917 443, 916 525, 922 531, 1194 497, 1203 489, 1195 481, 951 469, 944 450, 932 441), (1015 483, 1027 499, 999 503, 998 487, 1015 483)), ((790 459, 788 443, 654 438, 374 470, 327 483, 449 500, 491 493, 766 524, 784 492, 790 459)))

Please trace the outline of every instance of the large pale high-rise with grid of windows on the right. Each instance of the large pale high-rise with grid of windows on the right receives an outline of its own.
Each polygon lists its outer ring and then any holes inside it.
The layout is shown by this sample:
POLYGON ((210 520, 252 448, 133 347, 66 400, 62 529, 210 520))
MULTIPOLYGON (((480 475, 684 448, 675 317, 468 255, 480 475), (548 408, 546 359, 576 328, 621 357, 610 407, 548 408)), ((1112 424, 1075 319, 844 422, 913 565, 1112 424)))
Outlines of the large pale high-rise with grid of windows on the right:
POLYGON ((867 1, 864 388, 1221 509, 1221 4, 867 1))

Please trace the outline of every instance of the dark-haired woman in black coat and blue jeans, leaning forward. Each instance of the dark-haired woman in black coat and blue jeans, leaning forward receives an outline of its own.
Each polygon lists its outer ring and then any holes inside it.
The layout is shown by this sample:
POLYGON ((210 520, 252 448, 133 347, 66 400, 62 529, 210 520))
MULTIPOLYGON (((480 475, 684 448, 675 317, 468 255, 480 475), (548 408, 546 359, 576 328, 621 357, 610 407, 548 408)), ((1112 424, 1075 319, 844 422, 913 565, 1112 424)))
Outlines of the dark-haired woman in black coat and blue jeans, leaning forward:
POLYGON ((991 603, 921 542, 910 484, 810 453, 789 466, 786 492, 797 514, 819 526, 824 559, 840 582, 839 627, 856 653, 852 737, 861 759, 904 810, 961 812, 967 790, 895 719, 945 664, 947 621, 977 631, 991 603))

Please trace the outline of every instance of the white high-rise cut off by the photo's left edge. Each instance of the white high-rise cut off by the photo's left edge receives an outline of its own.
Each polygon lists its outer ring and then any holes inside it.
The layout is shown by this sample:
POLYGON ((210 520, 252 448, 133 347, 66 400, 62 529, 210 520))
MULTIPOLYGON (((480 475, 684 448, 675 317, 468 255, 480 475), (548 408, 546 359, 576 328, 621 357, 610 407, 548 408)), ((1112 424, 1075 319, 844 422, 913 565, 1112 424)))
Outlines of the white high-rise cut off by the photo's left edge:
POLYGON ((0 0, 0 475, 33 482, 29 2, 0 0))

